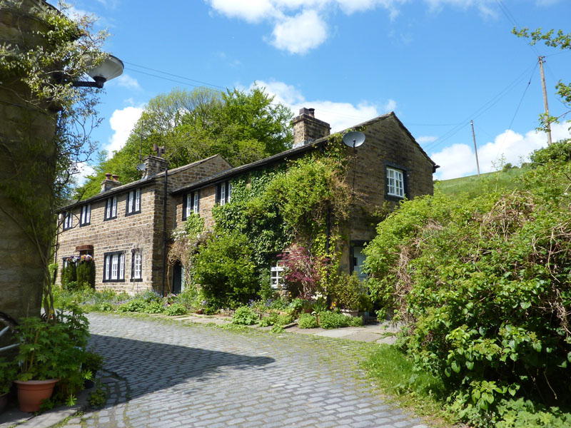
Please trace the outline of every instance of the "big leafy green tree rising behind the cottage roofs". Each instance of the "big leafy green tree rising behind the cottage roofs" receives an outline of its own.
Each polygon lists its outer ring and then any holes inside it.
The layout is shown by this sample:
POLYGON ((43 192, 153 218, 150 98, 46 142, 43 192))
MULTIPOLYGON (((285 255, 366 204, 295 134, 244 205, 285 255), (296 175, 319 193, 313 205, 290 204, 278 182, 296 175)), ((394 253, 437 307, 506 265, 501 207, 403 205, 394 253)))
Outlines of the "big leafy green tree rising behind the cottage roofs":
POLYGON ((281 103, 273 104, 263 88, 226 92, 208 88, 179 88, 148 102, 125 146, 95 167, 77 190, 84 198, 99 193, 105 173, 116 173, 121 183, 141 178, 135 166, 154 154, 153 144, 165 146, 170 168, 220 154, 238 166, 280 153, 291 147, 292 114, 281 103))

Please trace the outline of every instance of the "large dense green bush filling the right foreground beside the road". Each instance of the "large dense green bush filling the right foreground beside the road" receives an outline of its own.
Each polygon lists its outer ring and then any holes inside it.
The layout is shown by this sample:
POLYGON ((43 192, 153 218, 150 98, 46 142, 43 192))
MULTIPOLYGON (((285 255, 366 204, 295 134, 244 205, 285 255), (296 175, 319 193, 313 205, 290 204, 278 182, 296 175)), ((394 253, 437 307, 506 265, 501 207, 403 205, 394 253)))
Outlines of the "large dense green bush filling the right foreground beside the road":
POLYGON ((405 202, 365 250, 415 367, 445 379, 471 424, 496 426, 512 397, 562 409, 571 397, 570 175, 549 162, 522 175, 526 191, 405 202))

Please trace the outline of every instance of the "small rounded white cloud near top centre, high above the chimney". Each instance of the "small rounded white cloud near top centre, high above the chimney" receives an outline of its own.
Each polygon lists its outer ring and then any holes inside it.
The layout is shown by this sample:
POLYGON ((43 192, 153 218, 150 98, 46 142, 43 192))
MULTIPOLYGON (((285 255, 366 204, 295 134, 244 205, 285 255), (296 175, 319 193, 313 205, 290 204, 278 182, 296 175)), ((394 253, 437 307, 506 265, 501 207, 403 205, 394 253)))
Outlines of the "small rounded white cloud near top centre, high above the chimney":
POLYGON ((316 11, 303 11, 276 24, 271 44, 290 54, 306 54, 327 39, 327 24, 316 11))

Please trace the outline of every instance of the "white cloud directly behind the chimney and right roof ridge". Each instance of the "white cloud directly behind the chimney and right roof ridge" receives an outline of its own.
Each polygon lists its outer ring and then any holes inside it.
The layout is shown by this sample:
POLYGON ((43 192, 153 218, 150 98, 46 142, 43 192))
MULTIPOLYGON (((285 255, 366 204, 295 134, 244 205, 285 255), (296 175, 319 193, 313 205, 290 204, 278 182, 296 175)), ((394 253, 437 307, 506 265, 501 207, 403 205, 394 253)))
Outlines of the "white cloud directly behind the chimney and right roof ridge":
MULTIPOLYGON (((396 108, 396 102, 389 100, 383 108, 363 101, 357 105, 352 103, 339 103, 327 100, 306 100, 295 86, 281 81, 257 81, 261 88, 266 88, 266 93, 273 95, 277 103, 285 103, 295 115, 301 107, 315 108, 315 117, 330 124, 331 132, 343 131, 350 126, 368 121, 369 119, 388 113, 396 108)), ((253 86, 253 85, 252 85, 253 86)))

